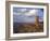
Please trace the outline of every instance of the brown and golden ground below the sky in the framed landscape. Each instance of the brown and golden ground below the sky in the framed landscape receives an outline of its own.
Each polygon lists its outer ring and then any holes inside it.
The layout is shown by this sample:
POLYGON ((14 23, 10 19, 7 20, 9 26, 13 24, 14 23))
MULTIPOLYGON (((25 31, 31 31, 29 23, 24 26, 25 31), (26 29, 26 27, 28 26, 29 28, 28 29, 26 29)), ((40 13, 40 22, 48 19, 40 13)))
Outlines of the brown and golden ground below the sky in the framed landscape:
POLYGON ((14 28, 15 33, 20 32, 42 32, 43 31, 43 24, 39 24, 36 26, 35 24, 22 24, 17 25, 16 28, 14 28))

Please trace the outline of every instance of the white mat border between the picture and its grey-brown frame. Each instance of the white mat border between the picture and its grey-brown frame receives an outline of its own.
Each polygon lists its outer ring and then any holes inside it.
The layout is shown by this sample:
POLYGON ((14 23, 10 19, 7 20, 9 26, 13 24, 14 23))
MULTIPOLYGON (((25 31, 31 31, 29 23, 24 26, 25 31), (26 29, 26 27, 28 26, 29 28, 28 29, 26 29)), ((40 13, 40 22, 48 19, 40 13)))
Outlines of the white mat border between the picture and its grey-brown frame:
POLYGON ((46 5, 11 4, 11 22, 10 23, 11 23, 10 37, 47 36, 47 6, 46 5), (39 9, 43 9, 43 32, 13 33, 13 6, 16 6, 16 8, 39 8, 39 9))

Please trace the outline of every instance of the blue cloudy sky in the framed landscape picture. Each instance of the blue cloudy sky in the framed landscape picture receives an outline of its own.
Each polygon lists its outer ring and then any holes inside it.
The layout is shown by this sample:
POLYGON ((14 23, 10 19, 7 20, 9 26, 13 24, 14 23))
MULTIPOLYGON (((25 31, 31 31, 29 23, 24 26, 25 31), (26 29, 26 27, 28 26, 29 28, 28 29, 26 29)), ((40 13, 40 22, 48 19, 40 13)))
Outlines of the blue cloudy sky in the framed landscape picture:
POLYGON ((42 22, 43 9, 13 8, 13 22, 15 23, 35 23, 35 16, 39 16, 39 22, 42 22))

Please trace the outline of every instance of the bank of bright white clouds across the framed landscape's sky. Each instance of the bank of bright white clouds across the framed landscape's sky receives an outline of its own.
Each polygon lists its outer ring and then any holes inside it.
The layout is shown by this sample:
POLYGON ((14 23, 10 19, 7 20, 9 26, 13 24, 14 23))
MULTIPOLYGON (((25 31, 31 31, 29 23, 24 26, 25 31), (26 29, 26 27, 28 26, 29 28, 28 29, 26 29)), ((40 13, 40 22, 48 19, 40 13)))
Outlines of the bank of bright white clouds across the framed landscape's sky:
POLYGON ((14 15, 26 15, 26 16, 30 16, 30 15, 36 15, 37 12, 38 12, 38 10, 28 10, 28 12, 27 12, 26 9, 22 9, 21 11, 22 12, 18 12, 18 13, 14 12, 14 15))

